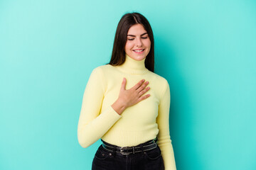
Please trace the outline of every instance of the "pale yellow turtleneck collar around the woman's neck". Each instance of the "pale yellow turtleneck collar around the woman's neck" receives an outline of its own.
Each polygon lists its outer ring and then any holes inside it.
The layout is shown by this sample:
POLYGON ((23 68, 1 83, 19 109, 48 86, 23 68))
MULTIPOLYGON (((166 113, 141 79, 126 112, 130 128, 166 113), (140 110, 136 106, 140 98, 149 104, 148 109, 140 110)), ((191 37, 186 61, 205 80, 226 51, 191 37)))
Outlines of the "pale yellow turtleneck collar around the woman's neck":
POLYGON ((124 63, 122 65, 118 65, 117 68, 122 70, 122 72, 129 74, 145 74, 146 72, 149 72, 145 67, 145 60, 146 57, 143 60, 137 61, 126 54, 124 63))

